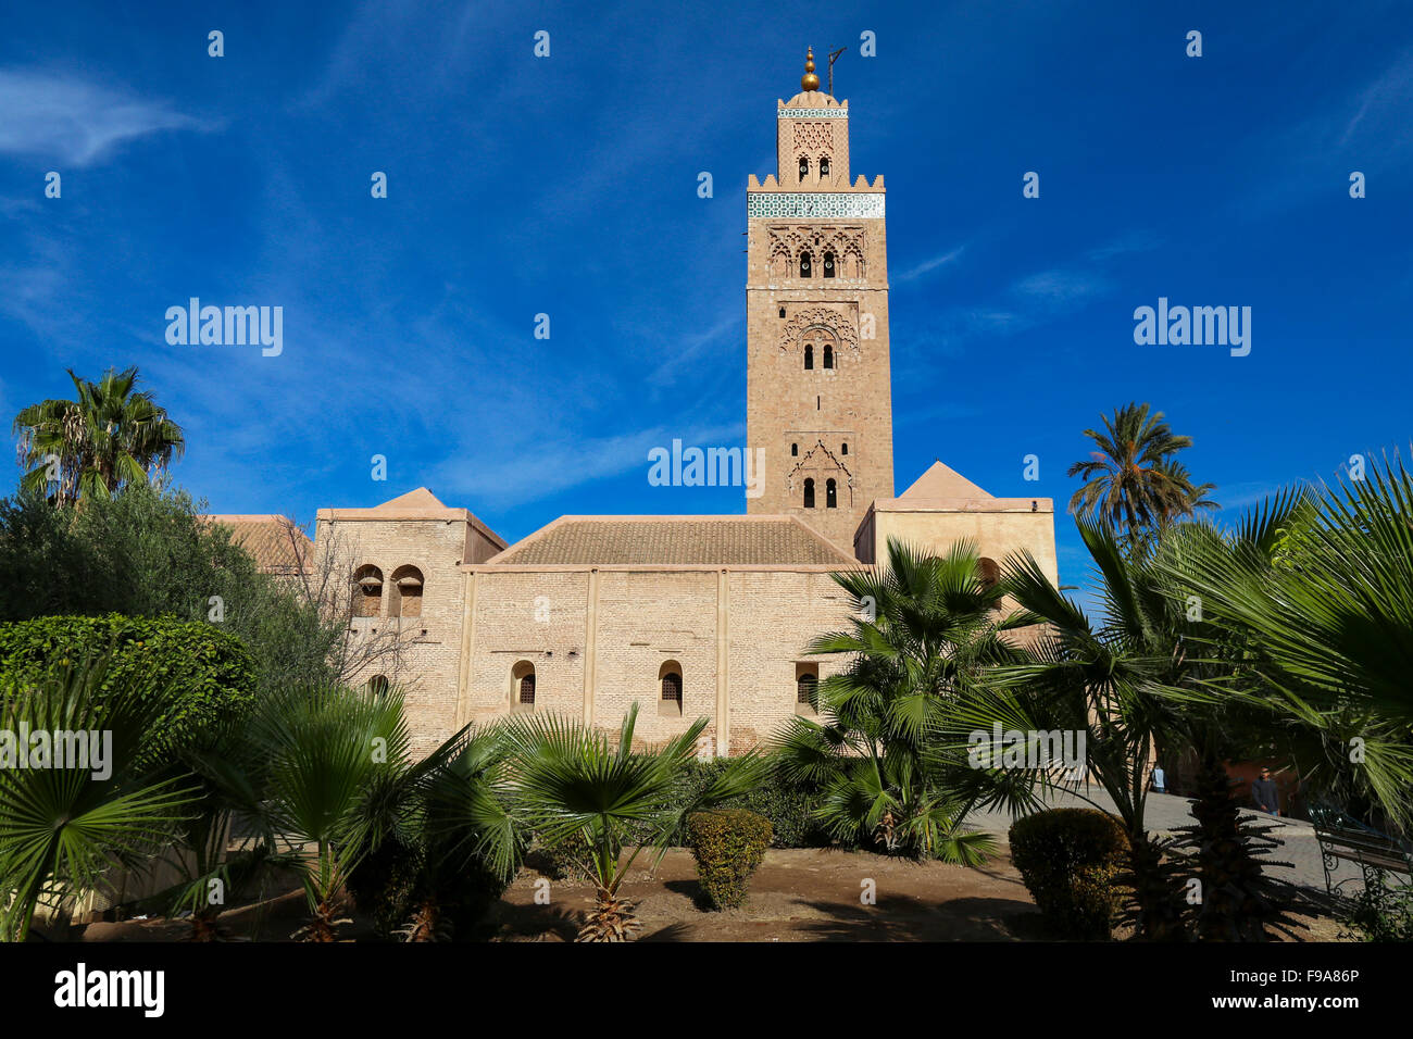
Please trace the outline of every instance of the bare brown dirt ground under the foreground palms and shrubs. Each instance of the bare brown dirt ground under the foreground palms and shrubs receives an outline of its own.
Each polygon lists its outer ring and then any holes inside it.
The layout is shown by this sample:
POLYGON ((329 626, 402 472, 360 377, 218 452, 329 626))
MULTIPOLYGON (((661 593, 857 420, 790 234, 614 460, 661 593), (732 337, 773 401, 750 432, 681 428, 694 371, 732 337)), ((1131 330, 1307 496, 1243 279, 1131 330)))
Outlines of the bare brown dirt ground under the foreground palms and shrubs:
MULTIPOLYGON (((771 848, 750 881, 740 909, 715 912, 697 884, 687 850, 673 850, 653 875, 639 858, 622 893, 634 900, 642 941, 1047 941, 1039 910, 1002 851, 981 868, 916 864, 858 851, 771 848), (872 881, 872 888, 865 882, 872 881), (866 905, 862 895, 872 889, 866 905)), ((492 941, 572 941, 589 906, 589 884, 550 881, 548 905, 538 905, 540 874, 521 869, 492 909, 483 934, 492 941)), ((233 906, 220 924, 230 937, 283 941, 305 916, 304 893, 233 906)), ((541 898, 543 900, 543 898, 541 898)), ((367 922, 350 913, 343 940, 367 940, 367 922)), ((1306 940, 1338 940, 1330 919, 1307 920, 1306 940)), ((181 941, 181 920, 99 922, 48 940, 181 941)), ((1123 937, 1123 934, 1116 934, 1123 937)))

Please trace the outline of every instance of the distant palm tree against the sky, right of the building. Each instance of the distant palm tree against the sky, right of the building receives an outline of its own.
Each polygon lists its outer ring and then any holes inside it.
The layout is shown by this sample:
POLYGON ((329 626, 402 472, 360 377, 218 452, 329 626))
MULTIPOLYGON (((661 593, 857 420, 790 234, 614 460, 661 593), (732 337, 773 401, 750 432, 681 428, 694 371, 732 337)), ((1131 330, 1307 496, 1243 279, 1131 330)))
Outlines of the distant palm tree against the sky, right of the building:
POLYGON ((1102 433, 1085 430, 1084 435, 1098 451, 1065 472, 1085 481, 1070 498, 1070 510, 1081 519, 1122 529, 1133 543, 1145 529, 1191 516, 1197 507, 1217 507, 1207 499, 1214 485, 1194 485, 1187 469, 1173 461, 1193 438, 1174 435, 1161 411, 1149 414, 1147 404, 1129 403, 1112 418, 1104 416, 1102 433))

